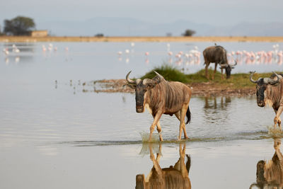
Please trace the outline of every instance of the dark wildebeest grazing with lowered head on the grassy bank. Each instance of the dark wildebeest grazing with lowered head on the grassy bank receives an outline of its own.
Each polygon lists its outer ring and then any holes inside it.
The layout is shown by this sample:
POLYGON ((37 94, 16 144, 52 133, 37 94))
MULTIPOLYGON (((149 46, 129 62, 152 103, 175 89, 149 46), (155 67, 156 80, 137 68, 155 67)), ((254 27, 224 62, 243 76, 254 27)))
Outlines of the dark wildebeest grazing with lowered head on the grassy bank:
MULTIPOLYGON (((221 47, 219 45, 207 47, 203 51, 203 56, 204 56, 204 64, 205 64, 205 76, 207 77, 207 79, 209 79, 207 69, 211 62, 215 63, 214 74, 216 73, 217 64, 220 65, 222 79, 223 79, 223 69, 225 69, 226 72, 226 79, 229 79, 231 76, 231 70, 237 64, 236 61, 235 64, 233 65, 229 64, 226 50, 224 49, 224 47, 221 47)), ((214 79, 214 74, 212 75, 212 79, 214 79)))

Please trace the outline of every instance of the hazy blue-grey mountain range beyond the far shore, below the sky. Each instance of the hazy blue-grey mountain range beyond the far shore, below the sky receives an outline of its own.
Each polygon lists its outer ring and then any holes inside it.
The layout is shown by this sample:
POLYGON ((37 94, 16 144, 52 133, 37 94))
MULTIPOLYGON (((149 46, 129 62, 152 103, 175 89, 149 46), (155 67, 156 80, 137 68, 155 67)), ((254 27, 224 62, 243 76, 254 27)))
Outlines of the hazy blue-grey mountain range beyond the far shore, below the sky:
POLYGON ((180 36, 186 29, 197 36, 281 36, 283 22, 238 23, 216 27, 207 23, 178 20, 172 23, 150 23, 134 18, 92 18, 86 21, 43 21, 37 30, 49 30, 57 36, 180 36))

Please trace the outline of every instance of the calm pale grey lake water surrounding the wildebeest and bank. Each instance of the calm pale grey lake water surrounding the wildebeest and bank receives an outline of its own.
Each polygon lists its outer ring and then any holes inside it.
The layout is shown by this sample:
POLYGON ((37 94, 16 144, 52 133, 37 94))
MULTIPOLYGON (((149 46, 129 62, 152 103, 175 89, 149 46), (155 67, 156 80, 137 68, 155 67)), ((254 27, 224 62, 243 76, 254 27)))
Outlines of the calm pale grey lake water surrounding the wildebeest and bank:
MULTIPOLYGON (((142 137, 153 119, 135 112, 133 94, 83 93, 84 81, 123 79, 129 70, 141 76, 163 64, 167 43, 57 42, 52 44, 57 52, 42 52, 49 43, 38 42, 16 44, 19 53, 11 52, 12 45, 0 43, 10 50, 0 54, 0 188, 135 188, 137 175, 149 175, 153 155, 161 168, 174 166, 184 147, 191 159, 192 188, 249 188, 257 183, 258 161, 281 153, 272 138, 281 137, 271 129, 275 113, 259 108, 255 97, 193 97, 192 122, 186 125, 190 140, 175 142, 178 120, 163 115, 166 141, 148 144, 142 137)), ((170 48, 202 51, 209 45, 171 42, 170 48)), ((221 45, 258 51, 275 44, 221 45)), ((188 67, 193 72, 203 65, 188 67)), ((234 71, 250 69, 282 70, 272 62, 241 64, 234 71)))

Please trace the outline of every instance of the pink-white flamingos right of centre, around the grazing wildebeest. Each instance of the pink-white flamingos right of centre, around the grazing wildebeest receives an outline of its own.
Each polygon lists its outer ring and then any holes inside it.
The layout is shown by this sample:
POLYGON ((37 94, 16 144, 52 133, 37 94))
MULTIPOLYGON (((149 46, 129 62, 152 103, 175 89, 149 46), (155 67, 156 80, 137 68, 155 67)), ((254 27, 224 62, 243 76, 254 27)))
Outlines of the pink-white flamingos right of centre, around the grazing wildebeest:
MULTIPOLYGON (((134 47, 134 43, 131 45, 134 47)), ((134 50, 125 50, 126 55, 126 63, 129 62, 129 53, 134 52, 134 50)), ((117 52, 118 59, 122 60, 122 51, 117 52)), ((149 63, 149 52, 144 52, 145 62, 149 63)), ((202 52, 199 51, 198 47, 195 46, 192 50, 188 52, 179 51, 173 53, 170 50, 170 44, 167 44, 167 55, 168 55, 168 63, 173 64, 173 62, 181 66, 183 64, 192 65, 192 64, 200 64, 200 60, 202 57, 202 52)), ((272 64, 272 62, 281 65, 283 63, 283 50, 279 50, 279 44, 273 45, 273 50, 265 51, 246 51, 246 50, 237 50, 227 52, 227 58, 229 63, 233 63, 235 60, 238 64, 272 64)))

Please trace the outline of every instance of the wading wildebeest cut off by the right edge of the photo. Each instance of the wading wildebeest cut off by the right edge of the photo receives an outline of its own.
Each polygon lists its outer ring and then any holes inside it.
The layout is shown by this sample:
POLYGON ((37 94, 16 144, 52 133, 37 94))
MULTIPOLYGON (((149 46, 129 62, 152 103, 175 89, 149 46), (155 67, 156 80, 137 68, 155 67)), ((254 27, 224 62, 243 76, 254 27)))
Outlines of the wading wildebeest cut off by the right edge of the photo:
POLYGON ((250 71, 250 81, 257 84, 256 86, 256 96, 257 96, 257 103, 260 107, 265 107, 265 105, 272 106, 273 110, 275 111, 275 118, 274 122, 280 130, 281 128, 281 120, 280 115, 283 110, 283 80, 282 74, 278 75, 274 71, 272 71, 272 75, 270 78, 260 78, 257 81, 253 80, 253 74, 255 71, 250 71))

